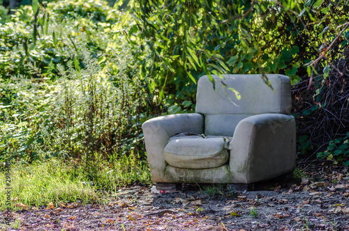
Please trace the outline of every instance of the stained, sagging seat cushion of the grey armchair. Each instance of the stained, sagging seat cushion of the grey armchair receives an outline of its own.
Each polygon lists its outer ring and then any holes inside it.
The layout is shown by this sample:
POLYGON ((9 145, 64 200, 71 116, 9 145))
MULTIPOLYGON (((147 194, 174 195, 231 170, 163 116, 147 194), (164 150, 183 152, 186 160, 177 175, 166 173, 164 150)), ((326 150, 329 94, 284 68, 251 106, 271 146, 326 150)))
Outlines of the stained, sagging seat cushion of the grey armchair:
POLYGON ((228 143, 231 137, 179 135, 171 137, 163 156, 172 167, 205 169, 219 167, 228 162, 228 143))

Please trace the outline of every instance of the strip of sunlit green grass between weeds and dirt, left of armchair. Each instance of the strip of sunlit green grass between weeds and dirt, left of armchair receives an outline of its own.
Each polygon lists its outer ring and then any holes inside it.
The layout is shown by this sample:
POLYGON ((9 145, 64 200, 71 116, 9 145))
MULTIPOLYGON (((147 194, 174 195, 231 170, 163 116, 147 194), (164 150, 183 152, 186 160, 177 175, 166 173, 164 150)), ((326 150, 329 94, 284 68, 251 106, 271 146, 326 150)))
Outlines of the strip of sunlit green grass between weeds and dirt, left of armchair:
MULTIPOLYGON (((11 167, 11 206, 23 203, 30 207, 47 206, 50 202, 103 203, 108 194, 120 186, 137 181, 151 183, 147 165, 131 157, 121 157, 115 163, 96 161, 89 168, 81 161, 45 162, 11 167)), ((6 209, 4 172, 0 173, 0 209, 6 209)))

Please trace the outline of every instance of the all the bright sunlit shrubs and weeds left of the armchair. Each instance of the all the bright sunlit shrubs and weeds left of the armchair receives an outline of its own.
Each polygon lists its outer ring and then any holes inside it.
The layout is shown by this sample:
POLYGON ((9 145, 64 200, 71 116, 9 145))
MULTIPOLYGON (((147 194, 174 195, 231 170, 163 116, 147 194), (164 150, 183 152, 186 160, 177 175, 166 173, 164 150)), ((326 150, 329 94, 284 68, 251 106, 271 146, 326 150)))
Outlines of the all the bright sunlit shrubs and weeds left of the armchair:
POLYGON ((111 12, 105 1, 3 10, 0 158, 144 160, 141 54, 119 31, 125 14, 111 12))

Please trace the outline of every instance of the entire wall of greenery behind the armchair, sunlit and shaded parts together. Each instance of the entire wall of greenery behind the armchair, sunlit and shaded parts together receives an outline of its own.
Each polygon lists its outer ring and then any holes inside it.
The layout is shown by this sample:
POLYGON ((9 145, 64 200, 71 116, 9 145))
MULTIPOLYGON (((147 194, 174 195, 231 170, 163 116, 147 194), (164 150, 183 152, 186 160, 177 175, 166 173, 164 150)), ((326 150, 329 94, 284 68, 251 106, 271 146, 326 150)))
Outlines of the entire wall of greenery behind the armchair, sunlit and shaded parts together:
POLYGON ((299 154, 348 164, 348 10, 337 0, 0 6, 0 158, 144 161, 142 121, 193 112, 202 75, 281 73, 294 86, 299 154))

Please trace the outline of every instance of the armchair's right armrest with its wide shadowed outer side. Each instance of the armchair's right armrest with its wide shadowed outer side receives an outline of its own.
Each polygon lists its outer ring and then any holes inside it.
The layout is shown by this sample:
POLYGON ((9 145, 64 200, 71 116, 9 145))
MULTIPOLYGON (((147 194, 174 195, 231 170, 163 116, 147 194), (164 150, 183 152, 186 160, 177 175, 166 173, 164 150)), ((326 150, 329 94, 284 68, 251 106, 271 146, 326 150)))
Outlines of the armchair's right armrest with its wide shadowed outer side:
POLYGON ((230 142, 232 177, 248 184, 286 174, 295 167, 295 118, 256 114, 242 119, 230 142))

